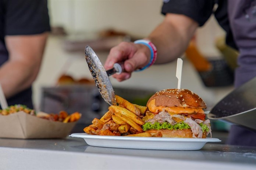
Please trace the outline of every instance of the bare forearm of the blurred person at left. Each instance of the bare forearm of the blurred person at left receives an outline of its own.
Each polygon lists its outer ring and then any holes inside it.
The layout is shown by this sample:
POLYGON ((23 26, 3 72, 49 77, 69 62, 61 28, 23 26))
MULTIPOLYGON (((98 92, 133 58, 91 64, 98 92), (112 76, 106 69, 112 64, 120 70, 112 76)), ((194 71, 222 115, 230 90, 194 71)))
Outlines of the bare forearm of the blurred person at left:
POLYGON ((7 98, 31 86, 42 61, 47 33, 7 36, 9 59, 0 67, 0 83, 7 98))

